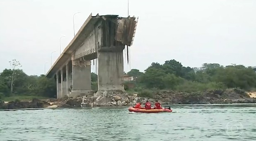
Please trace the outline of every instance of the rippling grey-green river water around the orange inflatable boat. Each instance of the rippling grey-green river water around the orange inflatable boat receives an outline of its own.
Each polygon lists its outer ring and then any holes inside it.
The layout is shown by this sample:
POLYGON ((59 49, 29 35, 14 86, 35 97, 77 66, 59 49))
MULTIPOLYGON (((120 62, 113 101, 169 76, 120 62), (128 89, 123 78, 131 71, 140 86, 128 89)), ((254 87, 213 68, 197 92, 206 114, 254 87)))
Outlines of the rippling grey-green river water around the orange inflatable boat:
POLYGON ((0 141, 256 141, 256 105, 173 105, 0 111, 0 141))

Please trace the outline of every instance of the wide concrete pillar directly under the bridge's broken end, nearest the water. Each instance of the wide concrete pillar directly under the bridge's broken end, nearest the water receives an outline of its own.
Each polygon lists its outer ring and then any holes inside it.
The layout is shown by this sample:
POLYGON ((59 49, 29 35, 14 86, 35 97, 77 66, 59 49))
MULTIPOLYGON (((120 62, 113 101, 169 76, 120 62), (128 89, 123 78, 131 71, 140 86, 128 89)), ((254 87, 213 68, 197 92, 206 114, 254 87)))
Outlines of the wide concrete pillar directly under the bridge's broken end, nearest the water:
POLYGON ((98 90, 124 90, 123 50, 98 52, 98 90))

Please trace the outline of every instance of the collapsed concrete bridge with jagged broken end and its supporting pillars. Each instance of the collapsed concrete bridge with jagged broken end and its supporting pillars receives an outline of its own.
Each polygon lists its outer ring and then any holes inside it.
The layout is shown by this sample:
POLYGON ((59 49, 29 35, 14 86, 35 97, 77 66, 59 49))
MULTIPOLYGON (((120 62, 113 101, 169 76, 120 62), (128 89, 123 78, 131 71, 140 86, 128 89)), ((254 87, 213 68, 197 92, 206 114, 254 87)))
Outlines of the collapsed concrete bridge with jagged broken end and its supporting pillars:
POLYGON ((91 91, 91 60, 97 58, 98 90, 124 90, 123 49, 131 46, 135 17, 90 16, 64 49, 46 77, 56 78, 57 98, 91 91))

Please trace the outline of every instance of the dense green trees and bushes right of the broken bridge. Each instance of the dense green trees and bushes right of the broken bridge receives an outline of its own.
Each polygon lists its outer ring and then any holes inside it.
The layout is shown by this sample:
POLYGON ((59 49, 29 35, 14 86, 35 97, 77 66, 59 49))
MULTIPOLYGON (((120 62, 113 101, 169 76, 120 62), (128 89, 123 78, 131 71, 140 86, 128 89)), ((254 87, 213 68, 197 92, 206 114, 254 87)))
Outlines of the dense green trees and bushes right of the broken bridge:
MULTIPOLYGON (((137 70, 136 72, 138 73, 137 70)), ((182 66, 176 60, 167 60, 163 65, 153 62, 145 73, 138 76, 138 83, 142 89, 158 88, 187 92, 225 88, 250 90, 256 88, 256 73, 251 67, 243 65, 232 64, 223 67, 216 63, 204 63, 202 67, 192 69, 182 66)), ((135 87, 133 91, 140 92, 140 88, 135 87)))

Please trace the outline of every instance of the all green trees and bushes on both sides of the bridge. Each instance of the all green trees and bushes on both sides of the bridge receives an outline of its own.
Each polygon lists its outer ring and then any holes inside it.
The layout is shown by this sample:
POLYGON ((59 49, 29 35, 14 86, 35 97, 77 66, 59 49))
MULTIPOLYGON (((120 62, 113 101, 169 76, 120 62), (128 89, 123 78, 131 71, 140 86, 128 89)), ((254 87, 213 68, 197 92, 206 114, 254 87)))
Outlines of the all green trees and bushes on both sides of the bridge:
MULTIPOLYGON (((27 75, 18 61, 10 61, 11 69, 0 73, 0 99, 15 97, 53 97, 56 98, 56 81, 44 75, 27 75)), ((153 62, 145 72, 131 69, 127 75, 134 81, 126 82, 127 91, 139 92, 141 96, 151 97, 151 90, 168 89, 173 91, 200 92, 213 89, 241 88, 251 90, 256 87, 256 73, 251 67, 243 65, 221 66, 205 63, 201 68, 184 67, 176 60, 165 61, 160 65, 153 62), (129 88, 133 83, 134 88, 129 88)), ((97 75, 91 73, 92 89, 97 90, 97 75)))

